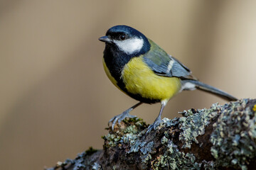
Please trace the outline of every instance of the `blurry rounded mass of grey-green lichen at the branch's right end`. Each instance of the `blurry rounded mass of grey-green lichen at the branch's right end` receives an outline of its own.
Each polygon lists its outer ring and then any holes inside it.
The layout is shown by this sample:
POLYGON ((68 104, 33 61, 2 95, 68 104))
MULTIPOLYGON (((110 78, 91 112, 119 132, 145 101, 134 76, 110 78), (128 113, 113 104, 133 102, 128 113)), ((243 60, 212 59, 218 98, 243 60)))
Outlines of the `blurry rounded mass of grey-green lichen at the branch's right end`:
POLYGON ((247 169, 250 159, 256 155, 256 119, 253 108, 247 107, 248 99, 227 103, 213 125, 210 151, 216 166, 247 169), (253 111, 253 112, 252 112, 253 111))

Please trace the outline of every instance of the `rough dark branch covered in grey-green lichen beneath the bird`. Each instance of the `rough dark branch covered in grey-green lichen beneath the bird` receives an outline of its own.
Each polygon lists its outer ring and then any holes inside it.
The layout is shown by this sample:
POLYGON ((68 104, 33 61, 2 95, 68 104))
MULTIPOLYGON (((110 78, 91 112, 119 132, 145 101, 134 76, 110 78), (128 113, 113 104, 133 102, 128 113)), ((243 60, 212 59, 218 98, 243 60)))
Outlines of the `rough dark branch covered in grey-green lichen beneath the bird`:
POLYGON ((256 99, 191 109, 146 133, 140 119, 124 120, 103 139, 52 169, 256 169, 256 99))

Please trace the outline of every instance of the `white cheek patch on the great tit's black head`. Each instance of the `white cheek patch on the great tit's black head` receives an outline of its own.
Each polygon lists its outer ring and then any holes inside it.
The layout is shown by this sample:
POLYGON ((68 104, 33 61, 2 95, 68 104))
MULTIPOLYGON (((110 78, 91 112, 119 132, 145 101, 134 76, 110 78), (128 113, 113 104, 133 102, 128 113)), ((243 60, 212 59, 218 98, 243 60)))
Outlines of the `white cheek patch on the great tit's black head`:
POLYGON ((131 55, 134 52, 139 52, 142 47, 144 40, 142 38, 130 38, 127 40, 113 40, 114 43, 119 47, 119 50, 131 55))

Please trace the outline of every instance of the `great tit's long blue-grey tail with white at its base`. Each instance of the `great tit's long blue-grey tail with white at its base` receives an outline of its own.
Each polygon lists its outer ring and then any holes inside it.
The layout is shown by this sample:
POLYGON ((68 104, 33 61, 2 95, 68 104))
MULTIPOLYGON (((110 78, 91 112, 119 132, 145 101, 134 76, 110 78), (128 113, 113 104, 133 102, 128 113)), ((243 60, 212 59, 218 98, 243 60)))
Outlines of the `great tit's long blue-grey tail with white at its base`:
POLYGON ((237 101, 238 100, 238 98, 235 98, 234 96, 231 96, 230 94, 227 94, 226 92, 221 91, 220 89, 217 89, 213 86, 204 84, 201 81, 197 81, 195 79, 183 80, 183 90, 193 90, 195 88, 199 89, 201 91, 209 92, 210 94, 214 94, 214 95, 224 98, 225 100, 228 100, 228 101, 237 101))

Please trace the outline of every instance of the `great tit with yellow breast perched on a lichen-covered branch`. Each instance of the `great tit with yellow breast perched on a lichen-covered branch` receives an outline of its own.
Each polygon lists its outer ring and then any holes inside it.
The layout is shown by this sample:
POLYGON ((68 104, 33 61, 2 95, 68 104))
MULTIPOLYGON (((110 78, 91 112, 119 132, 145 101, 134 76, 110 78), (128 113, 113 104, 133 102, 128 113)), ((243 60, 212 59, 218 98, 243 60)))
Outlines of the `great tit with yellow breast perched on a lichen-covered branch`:
POLYGON ((160 113, 147 132, 153 128, 155 130, 161 123, 161 113, 166 103, 183 90, 199 89, 228 101, 237 100, 224 91, 198 81, 188 67, 132 27, 113 26, 99 40, 105 42, 103 66, 107 77, 124 94, 139 101, 110 120, 112 130, 117 121, 120 123, 124 118, 136 117, 129 112, 142 103, 160 102, 160 113))

